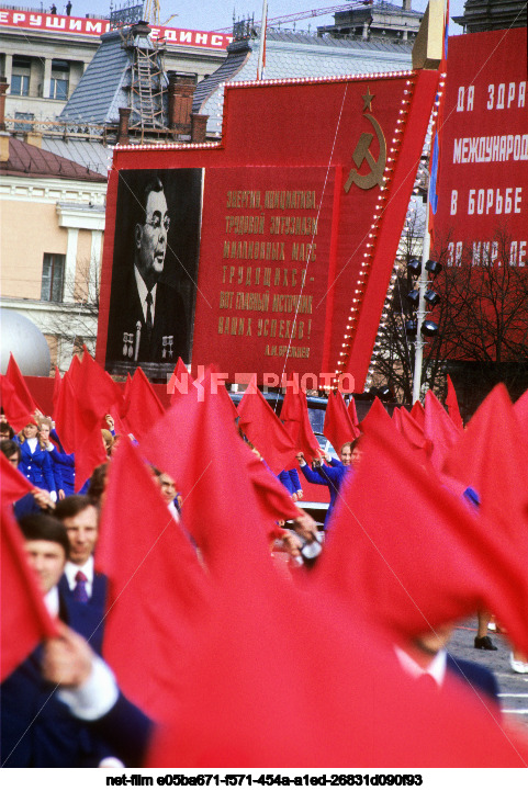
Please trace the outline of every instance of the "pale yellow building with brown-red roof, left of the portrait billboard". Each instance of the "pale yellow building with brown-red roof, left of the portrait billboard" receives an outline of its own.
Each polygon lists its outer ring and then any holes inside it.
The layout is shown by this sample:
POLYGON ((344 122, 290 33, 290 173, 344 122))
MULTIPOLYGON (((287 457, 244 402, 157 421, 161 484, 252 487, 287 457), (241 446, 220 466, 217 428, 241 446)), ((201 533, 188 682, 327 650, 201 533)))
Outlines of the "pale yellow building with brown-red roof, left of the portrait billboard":
POLYGON ((104 176, 0 133, 0 305, 44 332, 63 371, 94 348, 105 195, 104 176))

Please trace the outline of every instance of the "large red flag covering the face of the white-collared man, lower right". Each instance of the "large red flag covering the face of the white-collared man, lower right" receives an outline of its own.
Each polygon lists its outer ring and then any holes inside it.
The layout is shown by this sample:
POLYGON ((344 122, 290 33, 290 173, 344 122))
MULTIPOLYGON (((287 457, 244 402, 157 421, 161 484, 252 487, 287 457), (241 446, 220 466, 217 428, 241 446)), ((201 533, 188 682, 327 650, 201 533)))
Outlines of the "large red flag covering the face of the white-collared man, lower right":
POLYGON ((362 448, 315 572, 396 635, 487 609, 528 648, 528 530, 513 541, 454 497, 415 463, 392 423, 369 423, 362 448))

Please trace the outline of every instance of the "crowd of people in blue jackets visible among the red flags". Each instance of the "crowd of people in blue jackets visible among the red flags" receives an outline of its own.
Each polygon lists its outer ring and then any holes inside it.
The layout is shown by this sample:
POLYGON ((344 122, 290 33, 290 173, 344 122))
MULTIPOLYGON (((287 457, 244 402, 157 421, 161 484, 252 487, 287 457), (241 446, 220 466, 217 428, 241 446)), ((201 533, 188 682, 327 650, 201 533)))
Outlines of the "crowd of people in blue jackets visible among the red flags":
MULTIPOLYGON (((101 425, 106 461, 93 470, 88 481, 79 482, 75 477, 75 454, 64 451, 52 418, 33 415, 15 433, 2 410, 1 453, 32 487, 10 508, 47 611, 58 619, 56 635, 38 644, 3 679, 2 766, 114 768, 143 766, 146 761, 154 717, 123 694, 120 679, 102 658, 109 579, 97 569, 94 554, 113 457, 121 443, 110 414, 101 416, 101 425)), ((243 439, 260 465, 251 467, 248 462, 247 475, 263 504, 269 554, 276 567, 281 568, 281 577, 285 574, 289 583, 305 587, 314 562, 324 554, 325 544, 332 543, 341 490, 350 487, 361 467, 363 437, 342 442, 336 455, 321 452, 311 463, 299 450, 297 466, 278 476, 267 468, 266 460, 248 438, 243 439), (299 472, 308 483, 328 489, 329 506, 323 526, 300 507, 304 493, 299 472)), ((133 437, 132 442, 137 445, 133 437)), ((143 462, 166 506, 169 529, 183 536, 207 574, 211 569, 206 553, 192 532, 192 519, 187 518, 184 487, 147 457, 143 462)), ((122 494, 127 497, 126 490, 122 494)), ((465 491, 465 498, 474 508, 479 497, 473 489, 465 491)), ((165 530, 167 526, 160 527, 165 530)), ((490 612, 479 613, 475 648, 495 649, 487 631, 482 634, 483 624, 487 630, 491 621, 490 612)), ((408 678, 432 682, 437 691, 446 678, 457 676, 480 690, 498 719, 493 675, 474 663, 453 659, 446 651, 453 626, 453 622, 435 624, 435 629, 412 639, 394 641, 398 663, 408 678)), ((528 673, 528 659, 520 651, 512 655, 512 669, 528 673)))

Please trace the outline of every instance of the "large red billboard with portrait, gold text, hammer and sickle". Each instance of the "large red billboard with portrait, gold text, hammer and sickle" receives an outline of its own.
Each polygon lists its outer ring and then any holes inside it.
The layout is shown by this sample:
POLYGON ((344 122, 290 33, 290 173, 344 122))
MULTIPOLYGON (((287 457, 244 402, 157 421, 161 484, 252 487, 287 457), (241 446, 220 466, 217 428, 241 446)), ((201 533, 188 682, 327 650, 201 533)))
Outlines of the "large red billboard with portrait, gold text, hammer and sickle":
POLYGON ((229 382, 362 389, 437 82, 227 86, 222 144, 117 147, 98 359, 114 374, 161 378, 181 355, 229 382))

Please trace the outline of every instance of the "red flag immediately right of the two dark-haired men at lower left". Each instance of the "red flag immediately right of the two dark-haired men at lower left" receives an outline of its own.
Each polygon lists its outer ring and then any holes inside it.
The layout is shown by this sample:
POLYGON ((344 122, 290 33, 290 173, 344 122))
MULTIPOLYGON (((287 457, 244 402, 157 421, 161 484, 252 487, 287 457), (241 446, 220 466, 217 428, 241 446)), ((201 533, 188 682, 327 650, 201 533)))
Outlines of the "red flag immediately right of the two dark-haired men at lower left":
POLYGON ((104 658, 123 692, 162 719, 187 683, 207 580, 127 437, 110 467, 96 564, 110 579, 104 658))

